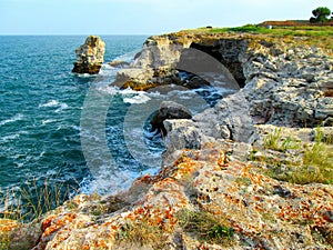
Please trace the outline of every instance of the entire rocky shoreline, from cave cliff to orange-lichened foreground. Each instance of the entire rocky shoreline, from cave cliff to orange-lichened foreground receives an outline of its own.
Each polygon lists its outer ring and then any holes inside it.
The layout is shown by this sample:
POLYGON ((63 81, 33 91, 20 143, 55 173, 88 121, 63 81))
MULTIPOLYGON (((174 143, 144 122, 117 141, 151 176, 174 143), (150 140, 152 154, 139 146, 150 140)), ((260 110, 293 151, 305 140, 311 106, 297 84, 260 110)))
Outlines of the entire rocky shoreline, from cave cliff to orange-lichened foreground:
POLYGON ((127 192, 81 194, 30 224, 2 221, 8 249, 332 249, 332 51, 302 37, 149 38, 112 84, 229 82, 232 93, 164 120, 161 171, 127 192))

